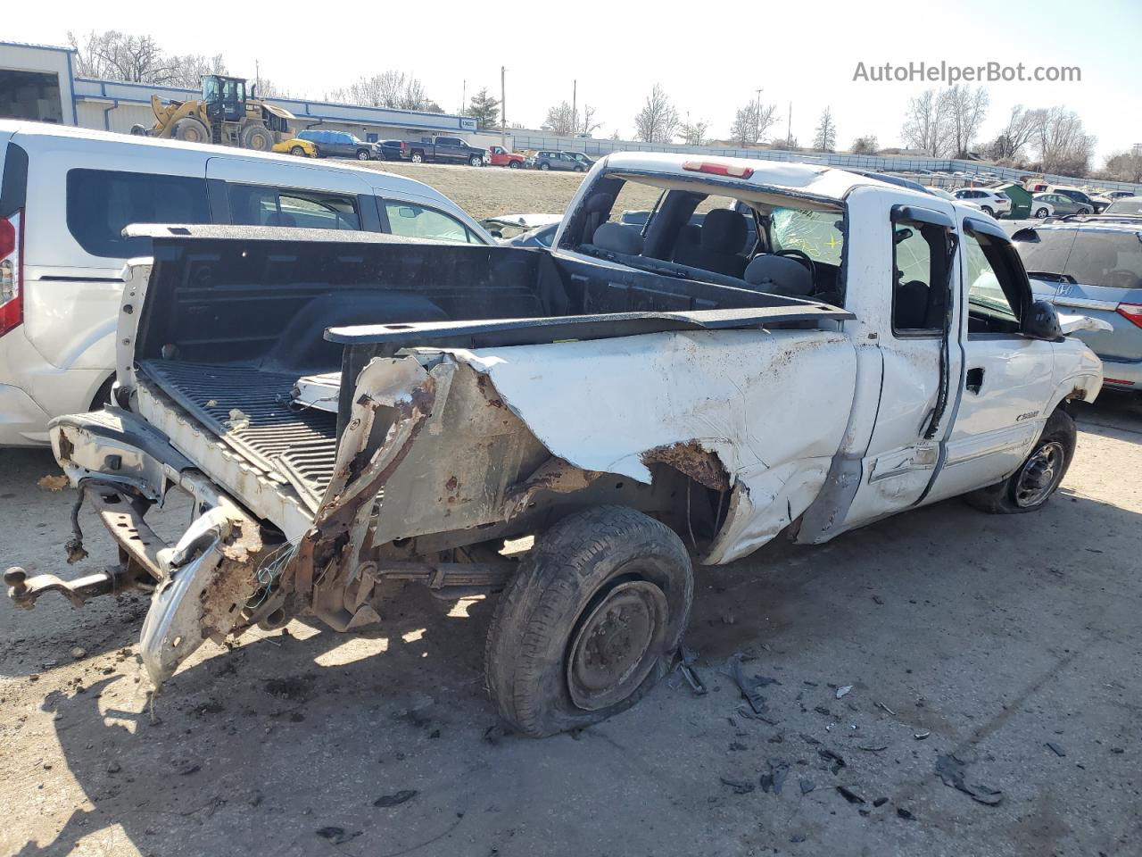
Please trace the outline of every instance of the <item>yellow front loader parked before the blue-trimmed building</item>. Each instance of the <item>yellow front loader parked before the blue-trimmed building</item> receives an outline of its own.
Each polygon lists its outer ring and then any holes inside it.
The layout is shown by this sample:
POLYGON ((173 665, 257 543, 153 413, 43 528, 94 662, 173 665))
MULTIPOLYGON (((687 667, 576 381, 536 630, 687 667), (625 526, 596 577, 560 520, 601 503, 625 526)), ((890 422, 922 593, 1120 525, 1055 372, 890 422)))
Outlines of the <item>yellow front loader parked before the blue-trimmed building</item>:
POLYGON ((275 104, 246 95, 244 78, 222 74, 202 77, 202 97, 187 102, 163 102, 151 96, 154 125, 136 125, 131 134, 188 143, 216 143, 268 152, 289 136, 293 114, 275 104))

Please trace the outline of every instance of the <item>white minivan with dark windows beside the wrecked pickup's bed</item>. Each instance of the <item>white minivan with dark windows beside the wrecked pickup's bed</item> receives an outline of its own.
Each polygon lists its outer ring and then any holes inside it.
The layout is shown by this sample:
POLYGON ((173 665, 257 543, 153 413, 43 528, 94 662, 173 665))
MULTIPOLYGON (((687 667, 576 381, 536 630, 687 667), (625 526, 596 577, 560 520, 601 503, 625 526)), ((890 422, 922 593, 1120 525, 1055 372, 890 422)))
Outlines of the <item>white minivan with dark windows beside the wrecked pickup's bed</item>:
POLYGON ((349 165, 0 120, 0 446, 47 443, 114 377, 131 223, 363 230, 492 245, 428 185, 349 165))

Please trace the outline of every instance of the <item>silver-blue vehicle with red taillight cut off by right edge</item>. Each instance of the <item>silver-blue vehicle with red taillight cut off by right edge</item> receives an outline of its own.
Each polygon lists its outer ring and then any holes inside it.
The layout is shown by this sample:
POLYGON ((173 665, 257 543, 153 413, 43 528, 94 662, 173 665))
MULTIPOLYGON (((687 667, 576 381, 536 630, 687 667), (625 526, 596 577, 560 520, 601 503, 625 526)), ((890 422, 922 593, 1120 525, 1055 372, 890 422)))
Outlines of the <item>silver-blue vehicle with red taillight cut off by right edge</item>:
POLYGON ((1142 392, 1142 225, 1045 223, 1012 239, 1037 298, 1107 322, 1077 334, 1102 360, 1103 383, 1142 392))

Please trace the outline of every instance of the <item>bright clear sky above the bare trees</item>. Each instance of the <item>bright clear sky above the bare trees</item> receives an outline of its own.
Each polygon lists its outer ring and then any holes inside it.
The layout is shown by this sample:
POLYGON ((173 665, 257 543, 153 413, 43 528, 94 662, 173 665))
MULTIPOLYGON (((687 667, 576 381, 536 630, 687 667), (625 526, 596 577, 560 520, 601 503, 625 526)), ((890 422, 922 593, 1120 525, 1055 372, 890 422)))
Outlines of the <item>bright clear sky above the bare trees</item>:
MULTIPOLYGON (((629 138, 654 83, 678 109, 727 137, 734 110, 755 97, 779 105, 785 134, 812 141, 833 111, 837 145, 875 134, 900 145, 908 98, 923 82, 854 81, 866 66, 941 61, 962 66, 1022 62, 1079 66, 1077 82, 988 83, 990 139, 1013 104, 1065 104, 1107 154, 1142 143, 1142 1, 968 0, 962 3, 658 2, 120 2, 6 3, 0 39, 63 45, 69 30, 150 33, 176 54, 222 53, 232 73, 264 77, 320 98, 361 75, 400 69, 419 77, 449 112, 461 91, 498 96, 507 67, 509 122, 538 127, 547 107, 571 98, 597 107, 603 127, 629 138)), ((773 134, 773 131, 771 131, 773 134)))

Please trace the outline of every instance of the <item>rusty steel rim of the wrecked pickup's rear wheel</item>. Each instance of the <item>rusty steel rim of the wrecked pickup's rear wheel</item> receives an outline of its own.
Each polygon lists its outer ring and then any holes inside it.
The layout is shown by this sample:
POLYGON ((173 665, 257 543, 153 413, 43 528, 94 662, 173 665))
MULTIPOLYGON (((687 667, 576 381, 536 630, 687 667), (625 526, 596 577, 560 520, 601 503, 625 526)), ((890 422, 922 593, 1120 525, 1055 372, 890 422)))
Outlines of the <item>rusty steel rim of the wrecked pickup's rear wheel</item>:
POLYGON ((572 702, 598 711, 629 697, 654 667, 668 615, 666 593, 642 579, 620 583, 588 608, 568 649, 572 702))

